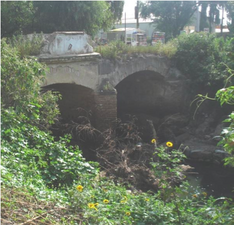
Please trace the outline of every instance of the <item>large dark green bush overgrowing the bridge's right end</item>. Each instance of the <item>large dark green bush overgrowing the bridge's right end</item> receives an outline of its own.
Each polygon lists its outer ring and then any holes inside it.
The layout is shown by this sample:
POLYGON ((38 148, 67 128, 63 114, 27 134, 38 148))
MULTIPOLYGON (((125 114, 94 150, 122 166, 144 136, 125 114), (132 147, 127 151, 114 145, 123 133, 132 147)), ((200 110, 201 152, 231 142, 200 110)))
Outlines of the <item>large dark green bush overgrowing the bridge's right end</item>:
POLYGON ((229 76, 225 63, 233 66, 233 61, 228 57, 233 49, 233 39, 225 41, 201 32, 181 35, 174 42, 177 46, 173 57, 176 66, 191 79, 194 86, 215 87, 229 76))

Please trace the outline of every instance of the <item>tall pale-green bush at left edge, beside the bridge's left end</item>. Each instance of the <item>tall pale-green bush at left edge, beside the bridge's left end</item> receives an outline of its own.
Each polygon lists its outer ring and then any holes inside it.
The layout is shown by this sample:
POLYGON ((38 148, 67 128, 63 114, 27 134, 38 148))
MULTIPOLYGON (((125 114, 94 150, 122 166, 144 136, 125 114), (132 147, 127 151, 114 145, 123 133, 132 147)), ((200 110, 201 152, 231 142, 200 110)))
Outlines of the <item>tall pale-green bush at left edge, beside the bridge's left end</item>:
POLYGON ((21 58, 5 40, 1 44, 2 108, 13 107, 29 118, 27 122, 48 128, 59 114, 58 96, 41 94, 45 66, 36 58, 21 58))

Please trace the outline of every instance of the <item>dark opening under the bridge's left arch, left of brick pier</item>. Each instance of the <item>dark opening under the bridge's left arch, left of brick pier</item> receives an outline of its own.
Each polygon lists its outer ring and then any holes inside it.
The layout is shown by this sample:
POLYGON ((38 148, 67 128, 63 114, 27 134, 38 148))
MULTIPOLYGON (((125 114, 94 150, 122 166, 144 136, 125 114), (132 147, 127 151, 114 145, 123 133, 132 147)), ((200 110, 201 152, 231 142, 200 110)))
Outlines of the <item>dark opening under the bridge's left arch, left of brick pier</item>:
POLYGON ((94 91, 77 84, 53 84, 44 86, 43 91, 59 92, 62 98, 58 101, 61 118, 51 127, 57 138, 71 134, 70 145, 79 146, 87 160, 96 161, 93 151, 102 141, 100 132, 94 128, 94 91))

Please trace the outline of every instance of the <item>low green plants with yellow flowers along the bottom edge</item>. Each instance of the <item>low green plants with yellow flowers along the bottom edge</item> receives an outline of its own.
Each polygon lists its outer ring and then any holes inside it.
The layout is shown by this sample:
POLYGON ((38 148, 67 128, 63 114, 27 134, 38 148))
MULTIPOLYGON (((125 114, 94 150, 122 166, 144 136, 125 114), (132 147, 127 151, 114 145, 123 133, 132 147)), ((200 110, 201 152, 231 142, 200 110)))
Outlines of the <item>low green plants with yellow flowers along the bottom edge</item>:
MULTIPOLYGON (((164 191, 139 193, 115 185, 106 178, 85 177, 69 190, 71 207, 79 212, 83 224, 231 224, 231 199, 214 199, 205 192, 189 192, 183 183, 171 189, 164 200, 164 191)), ((165 189, 166 189, 165 188, 165 189)))

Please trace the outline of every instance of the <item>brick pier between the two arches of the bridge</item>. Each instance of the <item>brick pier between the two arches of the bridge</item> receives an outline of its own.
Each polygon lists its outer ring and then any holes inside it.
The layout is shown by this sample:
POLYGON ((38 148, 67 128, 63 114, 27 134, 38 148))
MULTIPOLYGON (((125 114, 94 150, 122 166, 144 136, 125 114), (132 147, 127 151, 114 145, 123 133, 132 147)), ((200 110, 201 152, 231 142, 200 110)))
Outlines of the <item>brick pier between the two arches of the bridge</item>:
POLYGON ((117 119, 117 94, 116 92, 95 92, 94 102, 95 127, 104 131, 117 119))

